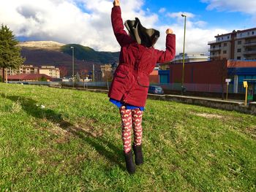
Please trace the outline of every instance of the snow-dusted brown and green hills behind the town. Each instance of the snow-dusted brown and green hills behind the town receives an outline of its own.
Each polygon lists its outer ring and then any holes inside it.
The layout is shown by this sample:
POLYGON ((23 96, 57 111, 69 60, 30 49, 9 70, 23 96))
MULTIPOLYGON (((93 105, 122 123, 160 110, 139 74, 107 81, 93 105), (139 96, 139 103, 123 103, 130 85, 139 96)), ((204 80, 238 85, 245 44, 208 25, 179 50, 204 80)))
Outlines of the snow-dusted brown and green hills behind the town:
POLYGON ((75 72, 91 71, 93 64, 95 64, 95 69, 99 70, 99 65, 118 62, 119 55, 118 52, 99 52, 82 45, 64 45, 50 41, 20 42, 18 46, 21 47, 21 55, 26 58, 24 64, 64 67, 68 74, 72 73, 72 49, 70 47, 75 47, 75 72))

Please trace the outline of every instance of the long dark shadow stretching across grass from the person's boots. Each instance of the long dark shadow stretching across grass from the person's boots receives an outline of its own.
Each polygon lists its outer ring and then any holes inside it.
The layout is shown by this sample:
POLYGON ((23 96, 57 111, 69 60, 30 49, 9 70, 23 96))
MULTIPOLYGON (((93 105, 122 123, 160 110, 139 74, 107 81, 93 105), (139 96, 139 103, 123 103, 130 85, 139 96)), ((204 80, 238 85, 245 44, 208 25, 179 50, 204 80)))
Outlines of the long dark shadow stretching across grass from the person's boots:
POLYGON ((95 134, 97 133, 93 127, 89 125, 79 124, 79 126, 74 126, 72 123, 64 120, 61 117, 61 114, 54 112, 50 109, 42 109, 41 106, 37 106, 37 101, 34 99, 26 98, 24 96, 5 96, 4 94, 0 94, 1 97, 10 99, 11 101, 20 103, 20 106, 28 115, 33 116, 34 118, 47 119, 52 123, 58 123, 59 127, 68 131, 75 137, 79 137, 83 140, 83 142, 88 143, 91 147, 94 147, 97 152, 108 158, 110 162, 118 164, 118 166, 125 170, 121 161, 123 161, 123 151, 113 145, 108 140, 102 138, 101 135, 95 134), (110 150, 107 150, 109 148, 110 150))

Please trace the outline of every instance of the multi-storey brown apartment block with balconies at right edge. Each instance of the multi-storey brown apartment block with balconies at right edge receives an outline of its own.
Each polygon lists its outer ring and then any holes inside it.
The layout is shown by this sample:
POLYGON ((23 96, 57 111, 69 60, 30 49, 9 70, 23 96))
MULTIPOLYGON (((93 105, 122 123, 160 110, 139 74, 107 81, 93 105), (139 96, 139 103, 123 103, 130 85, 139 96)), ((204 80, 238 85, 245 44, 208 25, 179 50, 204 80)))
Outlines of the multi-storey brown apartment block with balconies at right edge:
POLYGON ((256 28, 234 30, 229 34, 218 34, 215 38, 215 41, 208 42, 211 61, 256 59, 256 28))

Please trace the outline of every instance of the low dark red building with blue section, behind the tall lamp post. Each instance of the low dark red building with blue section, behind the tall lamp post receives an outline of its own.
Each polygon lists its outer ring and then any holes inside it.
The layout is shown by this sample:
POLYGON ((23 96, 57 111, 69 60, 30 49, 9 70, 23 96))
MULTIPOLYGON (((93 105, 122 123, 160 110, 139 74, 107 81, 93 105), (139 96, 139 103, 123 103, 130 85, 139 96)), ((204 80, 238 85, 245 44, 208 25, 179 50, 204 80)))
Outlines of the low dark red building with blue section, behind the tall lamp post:
MULTIPOLYGON (((227 78, 226 61, 185 63, 184 87, 187 91, 222 92, 227 78)), ((159 83, 181 90, 182 64, 170 64, 168 70, 159 70, 159 83)))

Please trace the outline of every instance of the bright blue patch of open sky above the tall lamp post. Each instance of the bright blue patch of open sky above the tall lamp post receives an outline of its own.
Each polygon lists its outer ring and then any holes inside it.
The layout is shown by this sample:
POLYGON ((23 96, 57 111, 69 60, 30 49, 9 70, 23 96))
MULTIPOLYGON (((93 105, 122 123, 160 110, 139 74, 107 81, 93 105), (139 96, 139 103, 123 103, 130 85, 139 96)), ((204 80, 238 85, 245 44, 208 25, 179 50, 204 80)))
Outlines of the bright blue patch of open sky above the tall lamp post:
MULTIPOLYGON (((227 0, 228 1, 228 0, 227 0)), ((175 20, 166 18, 166 12, 191 12, 195 15, 193 20, 203 20, 208 27, 228 27, 234 29, 254 28, 256 27, 252 15, 246 13, 246 10, 234 11, 230 9, 208 9, 209 2, 200 0, 183 0, 183 1, 159 1, 146 0, 143 9, 150 9, 152 12, 158 12, 159 9, 165 8, 165 12, 159 13, 161 23, 172 24, 175 20)), ((256 4, 255 4, 256 5, 256 4)))

